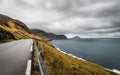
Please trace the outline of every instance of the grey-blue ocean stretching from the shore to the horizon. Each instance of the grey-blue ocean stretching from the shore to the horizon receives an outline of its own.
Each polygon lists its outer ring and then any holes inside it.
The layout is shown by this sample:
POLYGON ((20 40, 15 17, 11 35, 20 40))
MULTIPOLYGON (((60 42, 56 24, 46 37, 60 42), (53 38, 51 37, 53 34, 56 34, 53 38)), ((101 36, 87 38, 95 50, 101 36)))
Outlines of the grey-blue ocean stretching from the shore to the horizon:
POLYGON ((50 43, 61 51, 104 68, 120 70, 120 39, 68 39, 50 43))

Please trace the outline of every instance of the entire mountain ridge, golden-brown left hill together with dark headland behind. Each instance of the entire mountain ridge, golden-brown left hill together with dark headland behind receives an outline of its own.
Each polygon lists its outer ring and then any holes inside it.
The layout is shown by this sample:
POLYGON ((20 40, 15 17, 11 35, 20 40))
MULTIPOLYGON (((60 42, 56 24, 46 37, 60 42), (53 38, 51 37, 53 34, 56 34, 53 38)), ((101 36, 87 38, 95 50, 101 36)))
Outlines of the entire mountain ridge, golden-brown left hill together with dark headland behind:
POLYGON ((64 35, 47 33, 38 29, 30 30, 23 22, 0 14, 0 41, 25 38, 36 38, 43 40, 67 39, 64 35))

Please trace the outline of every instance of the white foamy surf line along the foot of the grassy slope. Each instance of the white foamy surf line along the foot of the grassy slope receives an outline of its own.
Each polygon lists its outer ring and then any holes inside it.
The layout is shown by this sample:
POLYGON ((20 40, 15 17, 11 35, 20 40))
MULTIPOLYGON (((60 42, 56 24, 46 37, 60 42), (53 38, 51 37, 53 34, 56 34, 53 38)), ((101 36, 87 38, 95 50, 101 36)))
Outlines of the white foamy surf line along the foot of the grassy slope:
MULTIPOLYGON (((49 44, 51 44, 51 43, 49 43, 49 44)), ((77 57, 77 56, 75 56, 75 55, 73 55, 73 54, 71 54, 71 53, 67 53, 67 52, 64 52, 64 51, 62 51, 60 48, 58 48, 56 45, 54 45, 54 44, 51 44, 54 48, 56 48, 56 50, 58 50, 59 52, 61 52, 61 53, 64 53, 64 54, 66 54, 66 55, 68 55, 68 56, 71 56, 71 57, 73 57, 73 58, 76 58, 76 59, 78 59, 78 60, 83 60, 83 61, 87 61, 86 59, 83 59, 83 58, 80 58, 80 57, 77 57)), ((95 64, 97 64, 97 63, 95 63, 95 64)), ((98 64, 97 64, 98 65, 98 64)), ((103 66, 102 66, 103 67, 103 66)), ((108 70, 108 71, 110 71, 110 72, 114 72, 114 73, 117 73, 117 74, 120 74, 120 70, 117 70, 117 69, 109 69, 109 68, 105 68, 105 67, 103 67, 104 69, 106 69, 106 70, 108 70)))

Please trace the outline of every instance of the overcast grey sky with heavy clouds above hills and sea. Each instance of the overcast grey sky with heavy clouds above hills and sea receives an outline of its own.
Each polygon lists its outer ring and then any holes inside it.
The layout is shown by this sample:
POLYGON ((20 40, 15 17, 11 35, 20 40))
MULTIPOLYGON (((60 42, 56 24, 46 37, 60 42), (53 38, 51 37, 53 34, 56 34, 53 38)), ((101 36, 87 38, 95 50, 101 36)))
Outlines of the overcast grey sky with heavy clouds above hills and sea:
POLYGON ((120 38, 120 0, 0 0, 0 13, 68 37, 120 38))

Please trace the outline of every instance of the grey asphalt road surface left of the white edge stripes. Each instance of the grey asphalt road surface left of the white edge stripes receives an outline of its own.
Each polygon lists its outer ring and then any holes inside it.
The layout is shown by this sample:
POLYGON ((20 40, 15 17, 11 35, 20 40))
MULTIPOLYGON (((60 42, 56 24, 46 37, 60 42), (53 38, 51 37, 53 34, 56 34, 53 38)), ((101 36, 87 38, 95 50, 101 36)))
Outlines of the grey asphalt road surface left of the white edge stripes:
POLYGON ((25 75, 33 40, 24 39, 0 45, 0 75, 25 75))

